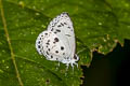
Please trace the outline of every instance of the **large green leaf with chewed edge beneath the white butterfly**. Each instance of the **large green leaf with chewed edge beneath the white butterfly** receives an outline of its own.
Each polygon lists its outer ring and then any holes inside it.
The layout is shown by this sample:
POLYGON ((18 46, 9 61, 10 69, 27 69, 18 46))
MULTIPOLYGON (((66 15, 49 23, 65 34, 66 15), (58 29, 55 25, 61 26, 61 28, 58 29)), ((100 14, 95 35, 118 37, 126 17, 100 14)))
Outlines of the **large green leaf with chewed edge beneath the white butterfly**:
POLYGON ((90 66, 93 51, 107 54, 117 41, 130 39, 128 0, 2 0, 1 4, 0 86, 79 86, 80 66, 90 66), (63 63, 56 69, 58 62, 47 60, 35 47, 38 34, 62 12, 69 13, 75 27, 80 60, 74 72, 72 68, 66 71, 63 63))

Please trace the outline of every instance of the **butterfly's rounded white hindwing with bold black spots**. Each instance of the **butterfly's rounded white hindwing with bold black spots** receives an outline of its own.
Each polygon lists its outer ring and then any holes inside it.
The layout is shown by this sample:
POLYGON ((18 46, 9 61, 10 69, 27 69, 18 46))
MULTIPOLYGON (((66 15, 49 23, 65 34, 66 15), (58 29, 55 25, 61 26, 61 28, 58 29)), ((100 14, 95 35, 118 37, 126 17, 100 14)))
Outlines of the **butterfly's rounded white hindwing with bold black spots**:
POLYGON ((43 31, 36 42, 37 51, 48 60, 62 60, 66 54, 66 47, 58 37, 51 31, 43 31))

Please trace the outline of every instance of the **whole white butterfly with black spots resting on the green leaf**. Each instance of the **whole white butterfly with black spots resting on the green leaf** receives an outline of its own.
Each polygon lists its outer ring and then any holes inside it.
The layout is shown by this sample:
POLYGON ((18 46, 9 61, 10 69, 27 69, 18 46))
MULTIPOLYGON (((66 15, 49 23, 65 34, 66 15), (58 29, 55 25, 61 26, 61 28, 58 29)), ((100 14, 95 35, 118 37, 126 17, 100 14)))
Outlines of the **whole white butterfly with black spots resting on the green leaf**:
POLYGON ((60 61, 78 67, 79 57, 75 54, 75 32, 68 13, 63 12, 53 18, 48 29, 42 31, 36 40, 36 48, 48 60, 60 61))

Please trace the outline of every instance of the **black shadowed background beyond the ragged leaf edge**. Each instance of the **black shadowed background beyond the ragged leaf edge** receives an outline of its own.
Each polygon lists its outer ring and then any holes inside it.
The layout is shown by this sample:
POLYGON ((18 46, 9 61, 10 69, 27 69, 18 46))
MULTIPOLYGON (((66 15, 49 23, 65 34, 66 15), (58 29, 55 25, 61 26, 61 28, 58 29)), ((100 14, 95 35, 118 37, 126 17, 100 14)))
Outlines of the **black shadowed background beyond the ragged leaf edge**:
POLYGON ((90 68, 84 66, 81 86, 130 86, 130 40, 123 46, 117 43, 107 55, 93 53, 90 68))

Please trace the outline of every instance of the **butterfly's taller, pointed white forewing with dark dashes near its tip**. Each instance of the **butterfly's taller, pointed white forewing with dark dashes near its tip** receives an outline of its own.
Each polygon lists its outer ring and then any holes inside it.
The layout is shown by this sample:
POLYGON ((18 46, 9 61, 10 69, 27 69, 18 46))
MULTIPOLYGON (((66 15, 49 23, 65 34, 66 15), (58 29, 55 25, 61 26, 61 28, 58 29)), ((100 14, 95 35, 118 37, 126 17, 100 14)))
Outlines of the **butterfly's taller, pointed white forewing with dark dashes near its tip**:
POLYGON ((48 26, 64 43, 67 51, 66 57, 73 58, 75 54, 75 33, 73 23, 67 13, 57 15, 48 26))

